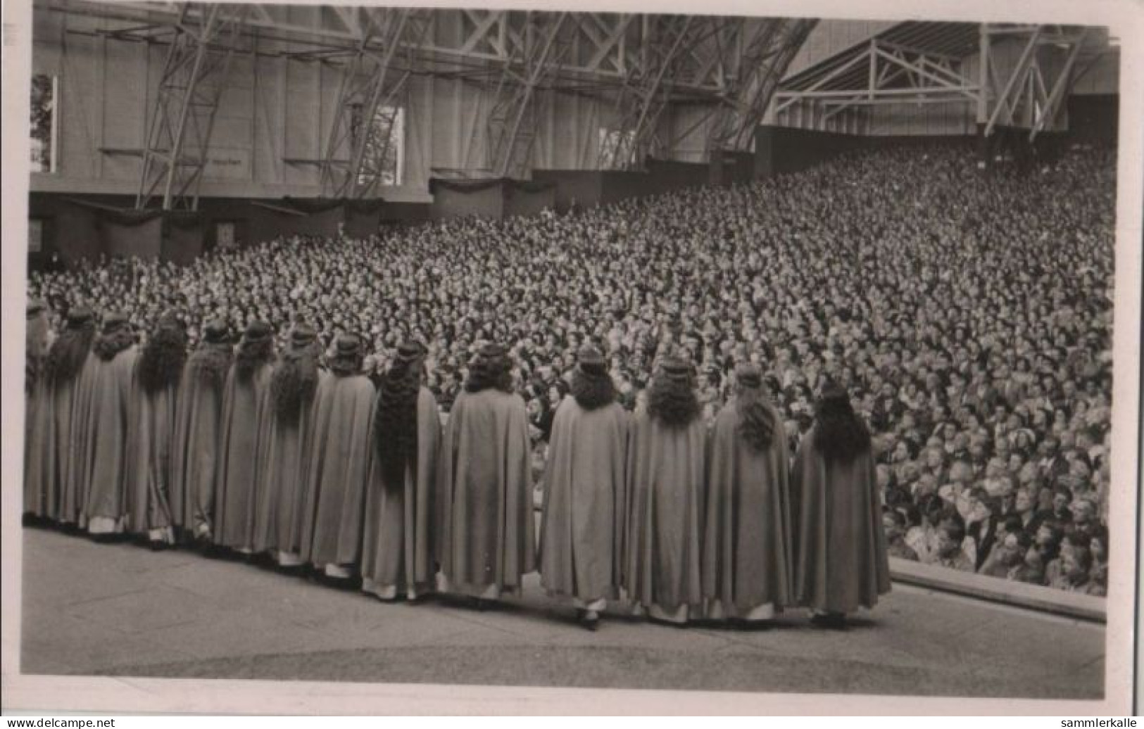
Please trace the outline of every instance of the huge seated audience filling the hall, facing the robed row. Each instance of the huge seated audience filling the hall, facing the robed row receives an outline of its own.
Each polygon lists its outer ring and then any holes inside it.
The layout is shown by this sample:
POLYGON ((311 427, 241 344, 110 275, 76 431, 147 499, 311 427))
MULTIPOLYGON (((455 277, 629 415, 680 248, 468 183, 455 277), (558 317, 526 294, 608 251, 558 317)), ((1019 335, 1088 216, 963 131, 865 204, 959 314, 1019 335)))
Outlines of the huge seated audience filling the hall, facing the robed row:
POLYGON ((1114 170, 1114 150, 988 174, 956 145, 881 150, 569 215, 81 264, 29 295, 140 333, 175 309, 192 342, 220 315, 356 333, 374 375, 418 338, 445 410, 501 342, 538 451, 588 341, 628 408, 667 353, 708 417, 757 362, 792 446, 831 377, 874 433, 891 555, 1104 594, 1114 170))

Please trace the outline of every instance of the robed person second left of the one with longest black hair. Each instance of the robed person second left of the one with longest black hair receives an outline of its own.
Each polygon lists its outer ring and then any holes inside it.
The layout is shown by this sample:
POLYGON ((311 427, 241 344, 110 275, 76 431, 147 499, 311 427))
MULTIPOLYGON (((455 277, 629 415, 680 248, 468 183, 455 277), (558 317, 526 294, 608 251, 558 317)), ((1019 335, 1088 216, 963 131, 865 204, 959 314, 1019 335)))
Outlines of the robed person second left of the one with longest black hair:
POLYGON ((310 466, 313 400, 328 372, 318 367, 321 344, 304 323, 270 375, 259 432, 259 487, 254 510, 254 551, 283 568, 301 567, 302 506, 310 466))

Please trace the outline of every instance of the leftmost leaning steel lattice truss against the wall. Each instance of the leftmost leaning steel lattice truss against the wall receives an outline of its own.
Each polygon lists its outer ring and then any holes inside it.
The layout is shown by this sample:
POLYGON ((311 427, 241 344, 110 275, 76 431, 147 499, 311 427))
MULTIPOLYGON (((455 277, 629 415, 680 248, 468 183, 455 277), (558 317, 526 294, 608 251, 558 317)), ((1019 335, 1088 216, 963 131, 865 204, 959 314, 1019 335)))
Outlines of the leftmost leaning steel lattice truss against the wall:
MULTIPOLYGON (((148 117, 146 147, 135 207, 161 199, 164 210, 196 210, 215 112, 230 72, 247 8, 240 5, 178 8, 167 29, 173 38, 154 106, 148 117)), ((157 29, 146 29, 153 31, 157 29)))

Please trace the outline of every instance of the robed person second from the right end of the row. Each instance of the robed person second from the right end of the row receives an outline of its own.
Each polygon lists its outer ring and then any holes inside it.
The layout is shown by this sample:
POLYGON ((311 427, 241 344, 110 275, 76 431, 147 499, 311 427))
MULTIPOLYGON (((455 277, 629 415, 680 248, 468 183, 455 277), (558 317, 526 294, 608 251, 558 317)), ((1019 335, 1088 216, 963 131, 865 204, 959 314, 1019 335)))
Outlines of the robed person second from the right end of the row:
POLYGON ((789 458, 782 420, 753 364, 710 434, 704 530, 707 617, 766 620, 791 602, 789 458))

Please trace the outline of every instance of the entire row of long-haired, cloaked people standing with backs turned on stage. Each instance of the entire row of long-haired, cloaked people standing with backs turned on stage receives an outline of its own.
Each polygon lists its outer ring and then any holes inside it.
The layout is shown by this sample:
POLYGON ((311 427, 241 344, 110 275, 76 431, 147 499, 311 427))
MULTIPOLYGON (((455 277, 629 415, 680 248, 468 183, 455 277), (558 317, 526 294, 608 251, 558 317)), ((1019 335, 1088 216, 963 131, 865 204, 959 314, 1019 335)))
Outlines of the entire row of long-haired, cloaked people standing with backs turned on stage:
POLYGON ((25 512, 73 530, 268 554, 360 577, 383 600, 479 606, 539 569, 590 628, 615 600, 673 624, 797 606, 839 626, 890 588, 869 434, 834 385, 792 460, 756 367, 736 370, 709 428, 690 362, 661 361, 628 414, 603 353, 581 349, 538 544, 529 419, 498 344, 469 363, 442 425, 415 342, 375 387, 357 337, 324 358, 304 325, 279 353, 263 322, 237 346, 210 322, 190 353, 174 315, 142 346, 126 318, 97 333, 85 309, 50 346, 33 341, 41 329, 29 329, 25 512))

